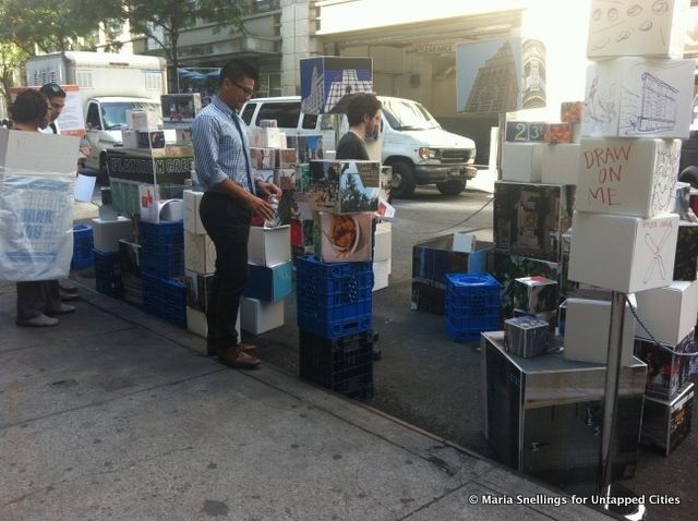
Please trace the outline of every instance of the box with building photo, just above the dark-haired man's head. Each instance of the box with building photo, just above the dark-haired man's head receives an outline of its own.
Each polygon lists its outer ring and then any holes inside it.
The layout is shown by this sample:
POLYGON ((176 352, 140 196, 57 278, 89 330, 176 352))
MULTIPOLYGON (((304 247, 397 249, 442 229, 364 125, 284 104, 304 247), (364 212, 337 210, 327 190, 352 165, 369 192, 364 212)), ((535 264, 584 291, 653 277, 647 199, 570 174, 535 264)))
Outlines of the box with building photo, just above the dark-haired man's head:
POLYGON ((371 58, 302 58, 300 76, 301 110, 306 114, 345 113, 349 94, 373 93, 371 58))

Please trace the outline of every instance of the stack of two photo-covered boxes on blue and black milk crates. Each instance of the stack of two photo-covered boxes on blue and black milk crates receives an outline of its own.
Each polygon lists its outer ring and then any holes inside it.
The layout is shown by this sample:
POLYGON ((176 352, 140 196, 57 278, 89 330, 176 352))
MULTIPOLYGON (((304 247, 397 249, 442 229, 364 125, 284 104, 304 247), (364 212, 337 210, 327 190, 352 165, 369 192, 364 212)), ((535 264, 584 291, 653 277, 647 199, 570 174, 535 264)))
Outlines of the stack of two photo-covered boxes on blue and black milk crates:
POLYGON ((311 160, 315 255, 297 258, 300 374, 350 397, 373 395, 373 219, 381 163, 311 160))

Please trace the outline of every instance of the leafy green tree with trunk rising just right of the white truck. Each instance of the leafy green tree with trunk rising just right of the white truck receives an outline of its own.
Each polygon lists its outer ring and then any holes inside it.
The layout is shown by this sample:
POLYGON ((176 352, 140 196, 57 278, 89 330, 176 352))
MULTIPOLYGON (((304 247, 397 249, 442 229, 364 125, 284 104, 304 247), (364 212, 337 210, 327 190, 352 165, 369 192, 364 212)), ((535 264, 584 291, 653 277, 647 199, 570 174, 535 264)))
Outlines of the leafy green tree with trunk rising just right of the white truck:
POLYGON ((124 16, 133 34, 152 38, 165 52, 179 88, 178 45, 182 31, 196 20, 216 22, 214 33, 229 26, 231 33, 245 34, 243 16, 249 9, 245 0, 124 0, 124 16))

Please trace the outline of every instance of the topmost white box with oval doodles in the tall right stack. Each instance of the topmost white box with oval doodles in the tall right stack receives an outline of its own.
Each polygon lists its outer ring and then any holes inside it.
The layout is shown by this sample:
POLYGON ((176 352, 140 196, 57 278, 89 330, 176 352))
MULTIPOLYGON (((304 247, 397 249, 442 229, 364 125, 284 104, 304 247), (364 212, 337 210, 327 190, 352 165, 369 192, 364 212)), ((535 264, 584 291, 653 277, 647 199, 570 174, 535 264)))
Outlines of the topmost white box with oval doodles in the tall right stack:
POLYGON ((592 56, 622 53, 638 44, 663 48, 672 26, 672 7, 667 0, 594 1, 589 22, 589 45, 592 56))

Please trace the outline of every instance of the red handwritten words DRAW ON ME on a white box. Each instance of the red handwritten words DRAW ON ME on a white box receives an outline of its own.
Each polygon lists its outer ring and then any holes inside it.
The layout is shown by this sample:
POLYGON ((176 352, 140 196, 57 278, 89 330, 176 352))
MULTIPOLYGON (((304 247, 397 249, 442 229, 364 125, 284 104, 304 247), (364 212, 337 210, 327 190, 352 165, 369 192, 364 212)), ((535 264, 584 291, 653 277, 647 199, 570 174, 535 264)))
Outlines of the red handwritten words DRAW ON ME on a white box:
POLYGON ((621 204, 618 185, 623 182, 623 169, 627 166, 633 144, 598 147, 585 152, 585 175, 595 179, 589 186, 587 199, 606 206, 621 204))

